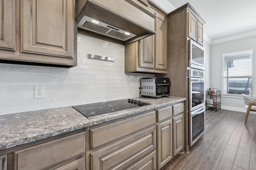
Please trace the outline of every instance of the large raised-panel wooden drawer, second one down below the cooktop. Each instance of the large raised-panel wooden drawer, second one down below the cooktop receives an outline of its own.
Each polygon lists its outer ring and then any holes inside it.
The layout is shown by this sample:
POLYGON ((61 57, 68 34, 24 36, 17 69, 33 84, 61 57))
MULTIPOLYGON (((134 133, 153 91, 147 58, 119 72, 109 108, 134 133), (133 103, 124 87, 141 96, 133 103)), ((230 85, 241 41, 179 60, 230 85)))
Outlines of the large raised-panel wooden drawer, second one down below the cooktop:
POLYGON ((150 127, 91 153, 92 170, 123 170, 156 149, 156 127, 150 127))

